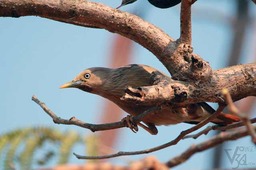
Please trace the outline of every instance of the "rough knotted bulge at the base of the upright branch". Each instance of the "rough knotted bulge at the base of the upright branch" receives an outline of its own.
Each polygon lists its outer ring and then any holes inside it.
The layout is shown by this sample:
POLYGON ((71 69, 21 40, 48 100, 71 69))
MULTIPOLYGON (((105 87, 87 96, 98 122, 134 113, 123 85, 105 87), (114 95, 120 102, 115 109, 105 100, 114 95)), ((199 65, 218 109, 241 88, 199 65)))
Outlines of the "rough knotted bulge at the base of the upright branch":
POLYGON ((180 43, 177 46, 168 44, 163 52, 162 58, 166 58, 166 68, 172 74, 174 80, 202 80, 208 81, 212 69, 210 64, 199 55, 193 54, 193 47, 180 43))

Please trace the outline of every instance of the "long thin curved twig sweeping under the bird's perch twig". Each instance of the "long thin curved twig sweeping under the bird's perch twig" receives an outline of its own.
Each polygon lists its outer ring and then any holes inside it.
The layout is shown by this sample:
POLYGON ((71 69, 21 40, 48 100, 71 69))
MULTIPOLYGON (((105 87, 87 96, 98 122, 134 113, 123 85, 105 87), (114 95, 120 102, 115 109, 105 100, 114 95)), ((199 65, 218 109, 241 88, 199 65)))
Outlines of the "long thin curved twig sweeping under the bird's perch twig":
POLYGON ((204 125, 206 125, 207 123, 209 123, 210 121, 215 119, 221 113, 221 111, 224 109, 224 107, 225 107, 224 105, 220 105, 219 108, 210 117, 208 117, 204 121, 198 123, 197 125, 191 127, 190 129, 187 129, 186 131, 182 131, 180 133, 180 135, 178 137, 176 137, 176 139, 174 139, 173 141, 170 141, 170 142, 168 142, 164 145, 160 145, 158 147, 154 147, 154 148, 146 149, 146 150, 135 151, 135 152, 120 151, 116 154, 111 154, 111 155, 106 155, 106 156, 81 156, 81 155, 78 155, 75 153, 74 153, 74 155, 76 155, 76 157, 78 159, 106 159, 106 158, 113 158, 113 157, 124 156, 124 155, 136 155, 136 154, 151 153, 151 152, 154 152, 154 151, 157 151, 160 149, 164 149, 164 148, 170 147, 172 145, 176 145, 185 135, 200 129, 201 127, 203 127, 204 125))

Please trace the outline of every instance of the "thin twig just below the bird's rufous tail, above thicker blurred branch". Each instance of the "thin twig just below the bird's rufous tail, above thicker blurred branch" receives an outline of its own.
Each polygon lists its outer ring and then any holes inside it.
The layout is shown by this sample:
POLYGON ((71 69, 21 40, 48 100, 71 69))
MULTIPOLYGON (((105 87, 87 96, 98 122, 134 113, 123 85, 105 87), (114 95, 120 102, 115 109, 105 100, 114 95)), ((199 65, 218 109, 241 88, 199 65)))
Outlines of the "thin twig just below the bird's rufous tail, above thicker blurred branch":
MULTIPOLYGON (((250 120, 251 123, 256 123, 256 118, 253 118, 250 120)), ((200 131, 199 133, 196 133, 194 135, 186 135, 184 136, 182 139, 186 139, 186 138, 198 138, 199 136, 205 134, 207 135, 207 133, 211 130, 222 130, 222 131, 226 131, 228 129, 233 129, 233 128, 236 128, 236 127, 241 127, 241 126, 244 126, 244 123, 243 122, 237 122, 237 123, 233 123, 231 125, 226 125, 226 126, 220 126, 220 125, 212 125, 212 126, 208 126, 206 127, 204 130, 200 131)))

